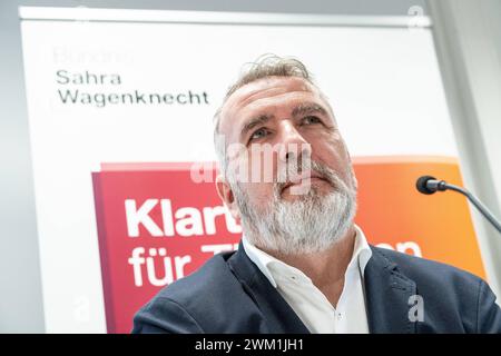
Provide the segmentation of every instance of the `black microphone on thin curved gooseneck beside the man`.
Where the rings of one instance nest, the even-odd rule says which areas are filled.
[[[489,211],[489,209],[466,189],[454,185],[450,185],[445,180],[439,180],[432,176],[422,176],[418,178],[415,187],[418,188],[419,192],[425,195],[444,190],[454,190],[462,194],[475,206],[477,209],[479,209],[479,211],[485,217],[485,219],[488,219],[489,222],[491,222],[492,226],[501,234],[501,224],[499,222],[499,220],[497,220],[495,217],[491,214],[491,211]]]

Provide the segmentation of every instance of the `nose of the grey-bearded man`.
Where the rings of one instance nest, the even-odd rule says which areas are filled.
[[[278,157],[282,161],[286,162],[303,155],[311,155],[310,142],[301,135],[293,122],[284,120],[281,131]]]

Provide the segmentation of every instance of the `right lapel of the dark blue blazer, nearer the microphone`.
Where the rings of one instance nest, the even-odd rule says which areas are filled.
[[[380,248],[372,248],[372,257],[364,271],[369,329],[371,333],[416,333],[416,324],[409,313],[410,298],[416,295],[415,283],[400,274],[396,264]]]

